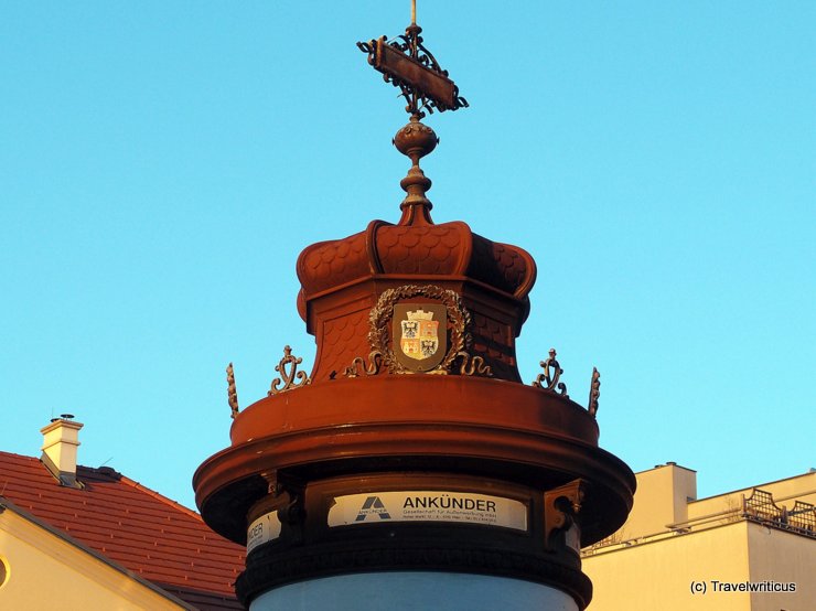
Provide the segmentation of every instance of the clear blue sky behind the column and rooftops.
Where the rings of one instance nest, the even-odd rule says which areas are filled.
[[[410,2],[0,9],[0,449],[72,412],[83,464],[186,505],[290,344],[307,245],[396,222],[407,119],[355,42]],[[432,115],[437,222],[539,266],[526,380],[558,349],[601,443],[700,496],[814,455],[813,2],[430,2],[469,109]],[[511,408],[509,406],[507,407]]]

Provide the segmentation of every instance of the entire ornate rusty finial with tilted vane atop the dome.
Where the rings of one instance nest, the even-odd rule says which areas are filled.
[[[411,116],[410,122],[394,138],[399,152],[411,160],[411,169],[400,185],[407,196],[400,204],[402,218],[400,225],[433,224],[430,217],[432,204],[425,196],[431,181],[419,168],[419,159],[430,153],[439,142],[433,130],[419,122],[425,111],[434,109],[443,112],[468,106],[468,100],[459,95],[459,87],[448,77],[436,57],[422,44],[422,29],[417,25],[417,0],[411,0],[411,24],[405,34],[388,41],[380,36],[368,42],[358,42],[361,51],[368,54],[368,63],[383,73],[386,83],[399,87],[401,96],[408,100],[405,107]]]

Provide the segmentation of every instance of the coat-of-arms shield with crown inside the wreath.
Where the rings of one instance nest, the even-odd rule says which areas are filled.
[[[444,306],[396,303],[393,320],[394,353],[405,367],[427,372],[442,362],[448,350]]]

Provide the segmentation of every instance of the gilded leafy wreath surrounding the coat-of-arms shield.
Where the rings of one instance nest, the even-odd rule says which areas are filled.
[[[468,328],[471,325],[471,315],[462,306],[462,301],[455,292],[437,287],[434,285],[405,285],[396,289],[383,291],[377,304],[372,308],[369,314],[371,328],[368,331],[368,343],[374,352],[383,357],[383,365],[391,374],[415,373],[404,366],[394,354],[391,343],[391,318],[394,306],[398,301],[425,297],[444,304],[448,313],[448,331],[450,331],[450,346],[442,361],[434,368],[427,371],[428,374],[447,375],[448,369],[460,352],[470,347],[471,335]]]

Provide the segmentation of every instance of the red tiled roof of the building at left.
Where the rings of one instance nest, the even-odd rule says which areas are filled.
[[[18,507],[202,611],[243,609],[233,583],[244,547],[110,468],[76,474],[82,490],[60,485],[39,459],[0,452],[0,494]]]

